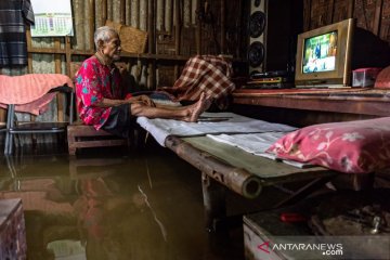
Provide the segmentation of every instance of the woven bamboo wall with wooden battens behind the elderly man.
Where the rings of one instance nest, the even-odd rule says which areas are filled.
[[[123,53],[122,61],[141,89],[172,86],[186,60],[194,54],[227,53],[245,58],[239,47],[239,28],[245,11],[242,3],[225,0],[70,0],[74,15],[74,37],[31,38],[27,32],[28,66],[23,69],[0,69],[4,75],[69,74],[70,62],[81,62],[94,53],[93,31],[106,20],[122,23],[148,32],[144,54]],[[240,1],[239,1],[240,2]],[[213,20],[199,20],[205,12]],[[226,9],[226,5],[231,5]],[[238,12],[237,12],[238,11]],[[229,17],[229,18],[227,18]],[[223,25],[221,23],[224,23]],[[222,30],[229,28],[229,39]],[[210,43],[209,39],[216,39]],[[217,42],[217,43],[216,43]],[[216,48],[219,46],[219,48]],[[60,104],[60,102],[58,102]],[[30,118],[18,115],[20,120],[62,119],[63,107],[52,105],[44,116]],[[0,121],[4,121],[0,110]]]

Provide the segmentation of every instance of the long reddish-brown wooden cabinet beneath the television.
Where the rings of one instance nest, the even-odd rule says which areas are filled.
[[[302,127],[390,116],[390,89],[238,89],[233,104],[238,114]]]

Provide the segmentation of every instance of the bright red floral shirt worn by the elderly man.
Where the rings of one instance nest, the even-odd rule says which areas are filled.
[[[76,75],[76,96],[80,119],[86,125],[93,125],[96,130],[102,128],[112,108],[99,107],[95,104],[103,98],[122,99],[119,81],[118,69],[102,65],[95,56],[82,63]]]

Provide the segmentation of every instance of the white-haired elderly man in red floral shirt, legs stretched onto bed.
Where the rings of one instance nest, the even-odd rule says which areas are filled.
[[[76,74],[76,95],[79,116],[86,125],[128,136],[134,117],[177,119],[196,122],[210,102],[205,93],[182,107],[158,107],[146,95],[125,99],[120,74],[113,62],[119,60],[120,39],[116,30],[103,26],[94,32],[96,53],[87,58]]]

